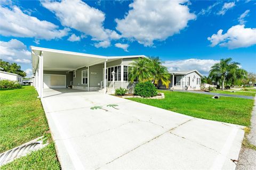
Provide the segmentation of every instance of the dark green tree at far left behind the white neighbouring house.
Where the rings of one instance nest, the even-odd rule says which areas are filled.
[[[25,71],[21,70],[20,65],[17,63],[9,63],[0,59],[0,67],[2,67],[4,69],[3,71],[5,72],[18,74],[21,77],[25,77],[27,75]]]

